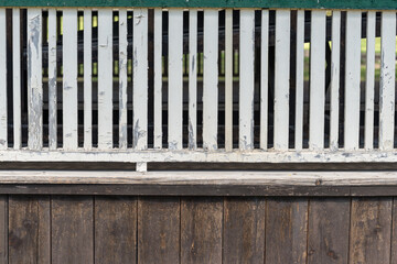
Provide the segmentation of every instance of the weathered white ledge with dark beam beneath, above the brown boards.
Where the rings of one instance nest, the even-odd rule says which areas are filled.
[[[0,194],[396,196],[397,172],[2,170]]]

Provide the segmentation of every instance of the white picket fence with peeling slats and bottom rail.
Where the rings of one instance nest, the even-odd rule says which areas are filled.
[[[60,12],[63,18],[62,24],[57,19]],[[78,13],[82,12],[84,76],[79,79]],[[98,26],[98,67],[95,89],[93,88],[94,12],[97,12]],[[29,8],[24,36],[20,23],[21,21],[23,23],[20,19],[22,11],[12,9],[12,34],[8,34],[7,26],[10,20],[6,9],[0,9],[0,161],[130,162],[142,163],[143,169],[144,163],[150,162],[397,162],[395,11],[378,12],[380,21],[377,21],[378,15],[375,11],[346,11],[346,36],[342,45],[345,48],[345,56],[341,56],[343,28],[341,21],[344,12],[340,10],[311,10],[308,28],[304,10],[242,9],[238,12],[239,25],[236,29],[233,10],[229,9],[225,10],[224,28],[218,25],[222,10],[154,9],[152,36],[148,34],[149,12],[149,9]],[[167,24],[164,12],[168,13]],[[47,18],[45,23],[44,13],[45,19]],[[118,16],[118,38],[114,37],[115,13]],[[189,32],[184,31],[186,13]],[[203,19],[197,15],[200,13],[203,13]],[[271,13],[275,13],[275,19],[271,19]],[[293,26],[291,26],[292,13],[296,15]],[[132,29],[129,29],[129,14],[132,14]],[[259,23],[256,15],[260,15]],[[366,29],[362,29],[363,15]],[[332,29],[331,40],[326,38],[329,20]],[[201,22],[203,29],[198,26]],[[43,23],[46,26],[43,26]],[[168,25],[167,31],[163,25]],[[375,56],[377,25],[382,28],[380,62],[377,62]],[[63,35],[62,44],[57,40],[60,28]],[[305,32],[308,29],[310,32]],[[271,30],[275,32],[273,36]],[[132,31],[131,43],[128,38],[130,31]],[[236,31],[238,38],[234,37]],[[366,33],[364,53],[362,31]],[[256,32],[259,38],[256,37]],[[305,34],[310,37],[308,81],[304,77]],[[168,61],[164,63],[162,50],[165,36]],[[12,52],[12,89],[8,89],[10,56],[7,55],[7,46],[10,37],[12,37],[12,51],[15,51]],[[25,37],[25,48],[21,44],[21,37]],[[202,80],[197,77],[201,67],[197,63],[200,37],[203,38],[204,58]],[[269,44],[272,37],[275,50]],[[291,47],[291,38],[296,43],[294,51]],[[256,48],[258,40],[259,50]],[[116,96],[114,92],[115,41],[118,44],[119,68]],[[332,42],[329,89],[325,81],[328,41]],[[47,42],[47,76],[43,74],[43,42]],[[149,42],[152,42],[152,65],[149,65]],[[223,42],[224,51],[219,50],[219,42]],[[189,76],[184,77],[186,45]],[[233,75],[236,50],[239,56],[237,77]],[[60,51],[62,62],[60,62]],[[273,64],[270,63],[271,52],[275,56]],[[132,57],[131,79],[128,75],[128,54]],[[219,54],[224,55],[219,56]],[[294,54],[292,67],[291,54]],[[26,61],[22,59],[23,56],[26,56]],[[364,81],[361,76],[363,58],[366,62]],[[21,110],[23,65],[21,64],[24,62],[28,87],[25,140],[23,118],[21,118],[23,117]],[[256,66],[256,62],[259,67]],[[218,74],[221,63],[225,67],[222,79]],[[343,81],[341,81],[342,65]],[[380,65],[378,89],[376,89],[375,75],[377,65]],[[149,67],[152,67],[153,75],[149,75]],[[165,67],[168,67],[168,76],[163,75]],[[290,69],[294,70],[296,76],[292,85],[293,100],[290,98],[292,75]],[[63,73],[62,78],[60,70]],[[256,75],[258,72],[259,74]],[[273,79],[273,92],[270,92],[270,78]],[[151,92],[149,92],[150,81]],[[342,82],[345,88],[341,99]],[[45,86],[47,88],[44,89]],[[57,87],[61,86],[60,103],[61,95]],[[309,88],[305,88],[307,86]],[[197,92],[200,89],[202,92]],[[78,99],[79,90],[83,90],[82,107]],[[94,91],[96,94],[93,96]],[[308,102],[304,99],[305,92],[309,92]],[[131,100],[128,96],[130,94]],[[187,98],[187,101],[184,98]],[[151,110],[148,110],[149,100],[153,101]],[[97,109],[97,123],[93,120],[94,106]],[[79,110],[84,120],[81,124]],[[259,118],[255,112],[259,113]],[[46,118],[44,113],[47,113]],[[234,121],[234,113],[238,114],[237,123]],[[130,114],[132,114],[131,122],[128,119]],[[150,114],[152,114],[152,127],[149,124]],[[164,118],[168,120],[163,120]],[[44,119],[47,119],[45,130]],[[202,122],[198,123],[198,120]],[[223,120],[222,123],[219,120]],[[79,131],[79,128],[83,129]],[[62,131],[62,139],[58,139],[58,130]],[[258,130],[258,136],[255,130]],[[222,144],[219,144],[221,132]],[[114,140],[115,133],[118,133],[117,142]],[[97,138],[97,143],[94,143],[93,134]],[[164,134],[167,134],[165,142]],[[79,139],[82,139],[81,143]],[[131,139],[131,144],[128,139]]]

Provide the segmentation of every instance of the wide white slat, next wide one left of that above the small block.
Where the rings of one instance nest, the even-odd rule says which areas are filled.
[[[98,148],[112,147],[112,10],[98,10]]]

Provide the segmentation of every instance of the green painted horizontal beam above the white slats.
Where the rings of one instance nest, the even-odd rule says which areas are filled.
[[[0,7],[299,8],[397,10],[397,0],[0,0]]]

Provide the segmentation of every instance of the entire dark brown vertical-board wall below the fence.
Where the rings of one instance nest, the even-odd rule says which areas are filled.
[[[0,263],[397,263],[386,198],[0,197]]]

